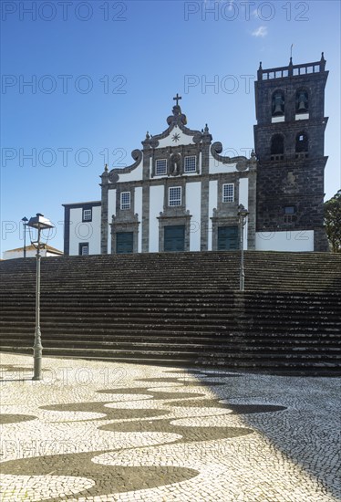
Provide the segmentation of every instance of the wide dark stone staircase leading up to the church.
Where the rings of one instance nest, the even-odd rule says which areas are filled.
[[[42,258],[44,355],[341,374],[341,255]],[[36,260],[0,262],[1,350],[32,354]]]

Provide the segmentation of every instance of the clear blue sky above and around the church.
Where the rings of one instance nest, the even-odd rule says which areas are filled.
[[[1,250],[40,212],[63,249],[64,203],[100,199],[99,175],[132,163],[181,95],[225,154],[253,148],[263,68],[325,52],[325,199],[340,188],[340,2],[3,1]],[[210,85],[211,84],[211,85]]]

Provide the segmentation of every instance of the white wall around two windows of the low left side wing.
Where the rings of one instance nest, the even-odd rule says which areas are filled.
[[[82,222],[82,208],[70,210],[70,255],[79,254],[79,244],[88,243],[89,255],[100,255],[100,206],[92,208],[92,221]]]

